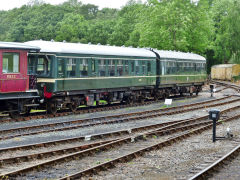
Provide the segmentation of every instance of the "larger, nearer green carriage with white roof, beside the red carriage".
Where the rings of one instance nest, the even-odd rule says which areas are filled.
[[[26,44],[41,48],[29,59],[37,67],[38,89],[50,113],[60,107],[74,111],[101,99],[132,102],[155,87],[156,57],[146,49],[47,41]]]

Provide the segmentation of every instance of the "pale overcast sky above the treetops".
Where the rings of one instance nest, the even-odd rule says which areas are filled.
[[[60,4],[67,0],[43,0],[50,4]],[[102,9],[104,7],[109,8],[121,8],[124,6],[128,0],[80,0],[84,4],[95,4]],[[145,0],[142,0],[142,2]],[[15,7],[19,8],[24,4],[27,4],[29,0],[0,0],[0,10],[9,10]]]

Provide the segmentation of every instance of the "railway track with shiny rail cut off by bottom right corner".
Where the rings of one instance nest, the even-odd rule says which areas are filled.
[[[239,179],[239,162],[240,142],[237,143],[237,146],[231,152],[227,153],[210,166],[191,177],[189,180],[209,179],[211,177],[216,179]]]

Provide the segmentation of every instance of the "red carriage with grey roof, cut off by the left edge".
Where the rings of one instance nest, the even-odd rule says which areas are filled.
[[[37,89],[31,86],[27,68],[28,52],[38,47],[24,43],[0,42],[0,111],[15,116],[31,109],[38,98]]]

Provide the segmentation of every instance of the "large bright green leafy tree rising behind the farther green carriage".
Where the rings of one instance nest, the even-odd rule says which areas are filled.
[[[211,34],[206,5],[190,0],[150,0],[135,34],[141,46],[203,53]]]

